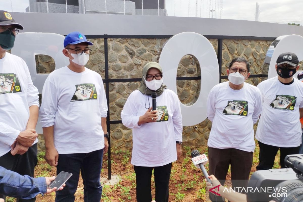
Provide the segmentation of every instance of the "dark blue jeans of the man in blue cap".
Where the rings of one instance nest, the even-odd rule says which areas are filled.
[[[57,175],[61,171],[72,173],[72,177],[65,183],[63,190],[56,192],[56,202],[75,201],[75,192],[78,187],[79,174],[84,184],[84,201],[100,202],[102,186],[100,173],[102,168],[103,149],[83,154],[59,154]]]

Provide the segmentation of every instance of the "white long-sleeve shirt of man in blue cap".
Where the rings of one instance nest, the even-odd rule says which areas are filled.
[[[42,91],[42,127],[54,125],[59,154],[88,153],[104,147],[101,117],[107,116],[101,76],[88,68],[77,73],[67,66],[53,71]]]

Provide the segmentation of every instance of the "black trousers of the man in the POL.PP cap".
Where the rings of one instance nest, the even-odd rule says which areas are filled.
[[[257,166],[257,171],[259,170],[268,170],[274,166],[275,157],[278,150],[280,149],[280,165],[281,168],[285,168],[284,158],[288,154],[299,154],[298,147],[276,147],[268,144],[259,142],[259,165]]]

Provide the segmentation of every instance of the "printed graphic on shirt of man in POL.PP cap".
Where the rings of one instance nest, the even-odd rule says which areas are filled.
[[[292,95],[276,95],[270,106],[275,109],[294,110],[297,97]]]

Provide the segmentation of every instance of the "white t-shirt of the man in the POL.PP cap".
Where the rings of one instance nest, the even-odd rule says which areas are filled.
[[[303,108],[303,83],[298,79],[282,84],[278,76],[257,86],[263,98],[263,111],[256,139],[276,147],[298,147],[301,144],[299,108]]]

